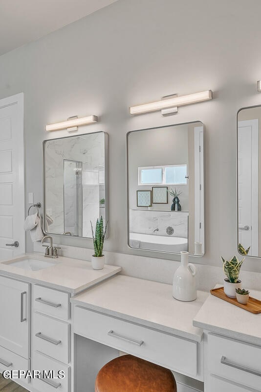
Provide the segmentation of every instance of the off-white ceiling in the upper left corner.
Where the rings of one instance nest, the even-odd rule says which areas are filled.
[[[0,0],[0,56],[116,0]]]

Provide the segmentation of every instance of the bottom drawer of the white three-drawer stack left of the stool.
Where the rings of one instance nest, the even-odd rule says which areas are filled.
[[[61,362],[55,361],[54,359],[47,357],[44,354],[35,351],[33,353],[32,370],[41,371],[41,376],[43,376],[43,370],[46,373],[49,371],[53,371],[50,373],[50,378],[45,378],[45,381],[40,380],[38,378],[34,378],[31,381],[32,386],[40,392],[54,392],[55,390],[59,392],[69,392],[70,390],[70,367]],[[64,378],[58,377],[58,371],[64,371]]]

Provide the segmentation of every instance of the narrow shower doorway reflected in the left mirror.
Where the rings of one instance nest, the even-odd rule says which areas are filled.
[[[82,162],[64,159],[64,233],[83,235]]]

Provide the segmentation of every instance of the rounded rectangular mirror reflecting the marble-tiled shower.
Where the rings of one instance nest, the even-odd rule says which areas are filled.
[[[108,220],[107,148],[105,132],[43,142],[45,233],[91,238]]]

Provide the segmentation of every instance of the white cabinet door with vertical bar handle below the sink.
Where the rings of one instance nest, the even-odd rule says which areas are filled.
[[[0,276],[0,346],[28,358],[29,284]]]

